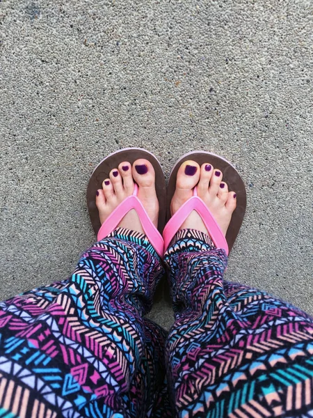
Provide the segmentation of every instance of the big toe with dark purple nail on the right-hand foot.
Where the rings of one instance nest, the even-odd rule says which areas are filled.
[[[193,195],[193,188],[200,178],[200,166],[197,162],[188,160],[182,163],[177,172],[176,189],[172,198],[172,214]]]

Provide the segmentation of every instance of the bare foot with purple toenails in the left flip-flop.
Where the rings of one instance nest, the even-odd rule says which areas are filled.
[[[155,173],[152,164],[144,159],[136,160],[132,166],[129,162],[121,162],[117,169],[111,170],[109,177],[103,181],[102,189],[97,190],[96,205],[101,224],[124,199],[133,194],[134,184],[137,183],[138,199],[143,203],[147,215],[157,228],[159,201],[155,191]],[[129,210],[118,226],[144,233],[134,209]]]

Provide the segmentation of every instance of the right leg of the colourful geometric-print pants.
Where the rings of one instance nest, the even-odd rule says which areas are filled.
[[[207,235],[177,233],[170,268],[175,326],[166,343],[175,416],[313,417],[313,318],[223,281]]]

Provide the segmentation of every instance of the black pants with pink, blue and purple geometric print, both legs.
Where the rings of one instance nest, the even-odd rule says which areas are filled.
[[[175,324],[145,318],[164,265],[116,229],[69,279],[0,304],[0,417],[313,417],[313,318],[223,281],[227,256],[179,231]]]

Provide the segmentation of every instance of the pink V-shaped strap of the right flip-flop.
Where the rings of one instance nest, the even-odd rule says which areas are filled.
[[[196,188],[193,191],[193,197],[188,199],[188,201],[186,201],[186,203],[184,203],[184,205],[177,210],[175,215],[173,215],[166,224],[163,230],[164,248],[168,248],[175,233],[177,233],[180,226],[182,226],[193,210],[198,212],[200,215],[216,248],[225,249],[226,254],[228,255],[229,251],[225,236],[207,206],[200,199],[200,197],[198,197]]]

